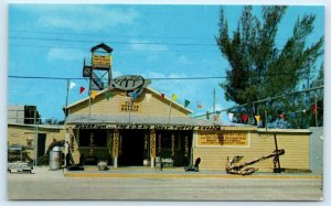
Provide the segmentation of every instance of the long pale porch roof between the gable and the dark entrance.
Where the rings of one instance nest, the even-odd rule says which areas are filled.
[[[88,116],[88,115],[70,115],[66,123],[114,123],[114,124],[171,124],[171,126],[221,126],[221,122],[193,119],[190,117],[166,117],[166,116]]]

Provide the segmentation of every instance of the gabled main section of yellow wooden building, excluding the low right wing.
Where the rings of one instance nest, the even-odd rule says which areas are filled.
[[[117,167],[147,161],[154,166],[160,156],[183,166],[193,154],[194,130],[221,128],[190,118],[190,109],[149,87],[135,101],[118,89],[107,100],[106,91],[67,107],[66,141],[75,162],[84,154],[87,164],[107,160]]]

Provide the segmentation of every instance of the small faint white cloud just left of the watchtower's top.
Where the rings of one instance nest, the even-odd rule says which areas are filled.
[[[51,48],[47,61],[83,61],[84,52],[78,48]]]

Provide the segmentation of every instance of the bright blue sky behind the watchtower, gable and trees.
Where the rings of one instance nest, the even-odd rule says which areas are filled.
[[[237,26],[242,7],[226,6],[229,29]],[[254,7],[259,13],[260,7]],[[317,14],[316,29],[308,42],[324,33],[322,7],[289,7],[279,26],[277,45],[292,32],[297,18]],[[135,4],[10,4],[8,75],[82,77],[84,57],[92,46],[105,42],[114,48],[113,75],[140,74],[145,78],[225,76],[228,63],[215,44],[220,6]],[[194,115],[234,104],[224,99],[218,86],[224,79],[153,80],[152,88],[178,101],[191,101]],[[84,79],[74,79],[88,87]],[[9,105],[36,105],[42,118],[63,119],[66,80],[8,79]],[[70,102],[87,96],[78,86],[70,90]],[[203,109],[196,108],[196,102]],[[226,113],[223,116],[226,121]]]

